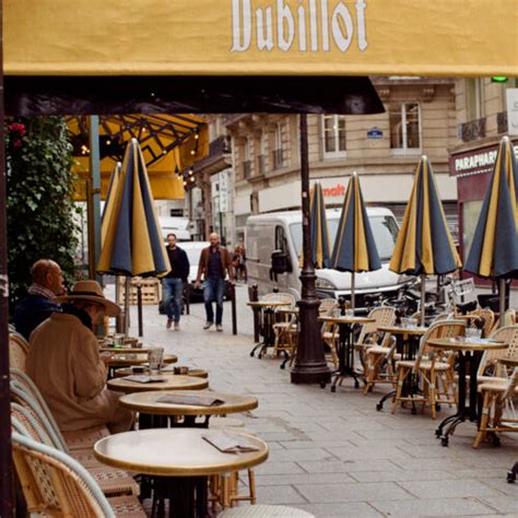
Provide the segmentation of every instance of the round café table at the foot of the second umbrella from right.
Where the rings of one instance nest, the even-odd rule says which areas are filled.
[[[396,337],[396,351],[401,354],[401,360],[414,360],[415,353],[419,349],[419,342],[421,337],[426,332],[426,328],[417,327],[401,327],[401,326],[379,326],[378,331],[389,333]],[[413,374],[407,376],[403,382],[402,395],[405,397],[419,391],[419,379]],[[386,393],[377,403],[376,410],[379,412],[382,410],[384,404],[389,399],[393,399],[396,390],[391,390]],[[415,403],[412,402],[412,414],[416,414]]]

